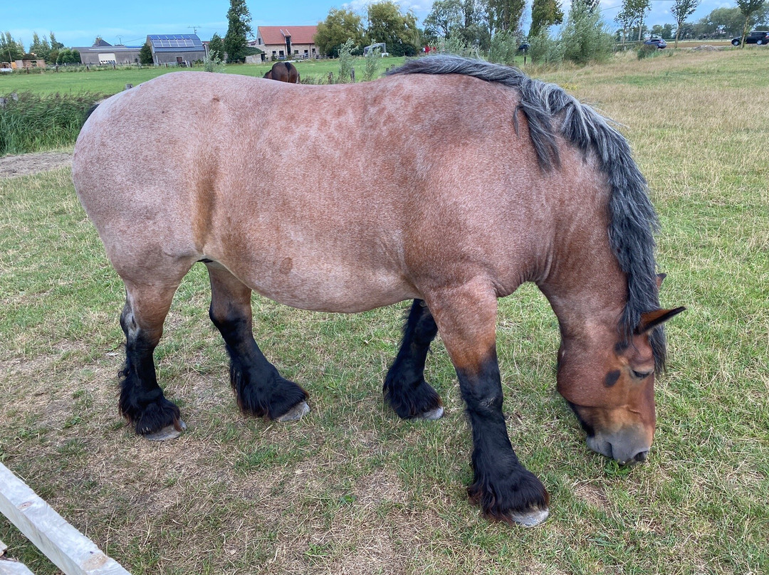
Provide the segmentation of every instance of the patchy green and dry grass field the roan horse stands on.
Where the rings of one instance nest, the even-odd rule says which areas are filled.
[[[769,573],[767,67],[769,51],[727,50],[538,74],[621,124],[661,217],[661,301],[688,307],[667,325],[650,458],[628,470],[588,450],[554,391],[544,297],[501,301],[508,430],[552,497],[541,527],[469,504],[440,342],[428,377],[444,418],[384,406],[406,303],[345,317],[255,297],[256,341],[311,394],[302,420],[269,423],[238,412],[195,266],[156,354],[189,429],[135,437],[116,410],[123,287],[68,168],[0,179],[0,460],[135,575]],[[0,539],[55,573],[2,519]]]

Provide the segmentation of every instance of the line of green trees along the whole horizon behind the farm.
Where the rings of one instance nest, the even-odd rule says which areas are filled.
[[[362,53],[365,45],[384,42],[395,56],[413,56],[427,46],[441,45],[447,52],[484,55],[491,60],[510,63],[521,44],[528,46],[534,60],[557,62],[568,59],[578,63],[600,61],[613,50],[615,40],[641,40],[645,35],[666,40],[679,38],[737,37],[760,25],[769,27],[769,2],[735,0],[735,8],[716,8],[697,22],[688,22],[701,0],[674,0],[671,15],[675,24],[648,28],[646,16],[651,0],[622,0],[611,28],[601,18],[599,0],[574,0],[564,14],[561,0],[531,0],[531,24],[522,28],[528,0],[434,0],[418,28],[414,12],[403,12],[393,0],[369,4],[363,14],[346,8],[331,8],[318,23],[315,45],[318,52],[336,58],[341,46],[352,42],[352,53]],[[225,38],[213,35],[209,44],[211,58],[243,61],[249,54],[261,51],[248,46],[253,36],[251,14],[245,0],[230,0]],[[561,25],[558,35],[551,28]],[[96,38],[98,42],[100,38]],[[744,45],[744,43],[743,43]],[[140,52],[142,64],[151,64],[149,45]],[[0,60],[14,61],[38,58],[48,64],[76,63],[80,55],[65,48],[54,32],[48,36],[32,35],[29,50],[10,32],[0,34]]]

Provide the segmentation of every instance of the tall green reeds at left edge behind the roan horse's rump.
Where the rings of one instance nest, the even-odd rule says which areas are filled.
[[[0,107],[0,155],[73,145],[85,112],[101,95],[21,92]]]

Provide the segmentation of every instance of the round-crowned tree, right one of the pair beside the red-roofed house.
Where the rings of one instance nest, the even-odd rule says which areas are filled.
[[[384,42],[394,56],[414,56],[420,43],[417,17],[414,12],[401,13],[392,0],[368,5],[368,40]]]

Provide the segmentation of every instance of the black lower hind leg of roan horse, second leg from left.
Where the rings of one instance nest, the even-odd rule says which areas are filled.
[[[230,383],[241,410],[257,417],[277,419],[307,400],[307,392],[281,377],[261,353],[251,334],[248,317],[238,314],[234,308],[225,317],[217,317],[213,304],[209,315],[225,340],[231,362]]]

